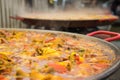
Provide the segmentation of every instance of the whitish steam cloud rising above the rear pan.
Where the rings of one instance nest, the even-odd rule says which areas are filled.
[[[18,2],[19,1],[19,2]],[[103,8],[99,0],[53,0],[48,4],[48,0],[14,0],[14,14],[19,16],[41,15],[41,16],[73,16],[78,15],[102,15],[109,13],[108,8]],[[63,2],[60,2],[63,1]],[[64,2],[66,1],[66,2]]]

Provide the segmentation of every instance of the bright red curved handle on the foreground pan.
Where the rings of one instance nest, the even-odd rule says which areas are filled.
[[[120,40],[120,33],[116,33],[116,32],[110,32],[110,31],[95,31],[92,33],[87,34],[88,36],[94,36],[97,34],[105,34],[105,35],[112,35],[113,37],[109,37],[109,38],[105,38],[104,40],[110,42],[110,41],[115,41],[115,40]]]

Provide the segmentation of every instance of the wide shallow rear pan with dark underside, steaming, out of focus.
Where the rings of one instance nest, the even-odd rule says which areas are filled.
[[[63,14],[64,15],[64,14]],[[46,16],[46,15],[44,15]],[[57,15],[59,16],[59,15]],[[118,17],[114,16],[112,14],[106,14],[106,15],[96,15],[96,16],[79,16],[79,15],[74,15],[77,17],[73,16],[68,16],[63,18],[62,16],[60,17],[54,17],[51,18],[48,17],[42,17],[38,18],[34,14],[33,16],[11,16],[10,18],[20,20],[23,23],[27,24],[28,27],[35,25],[35,26],[45,26],[45,27],[96,27],[96,26],[105,26],[112,24],[115,22]],[[98,18],[97,18],[98,17]]]

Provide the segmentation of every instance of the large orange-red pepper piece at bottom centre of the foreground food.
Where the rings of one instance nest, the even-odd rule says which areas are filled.
[[[58,73],[65,73],[68,71],[65,66],[60,65],[60,64],[49,63],[48,66],[52,67]]]

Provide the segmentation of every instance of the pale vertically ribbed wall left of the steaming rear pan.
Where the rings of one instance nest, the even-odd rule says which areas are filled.
[[[12,20],[20,7],[21,0],[0,0],[0,28],[22,28],[25,26],[21,21]],[[17,6],[16,6],[17,5]]]

